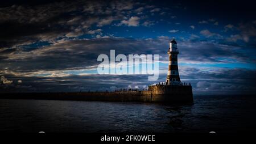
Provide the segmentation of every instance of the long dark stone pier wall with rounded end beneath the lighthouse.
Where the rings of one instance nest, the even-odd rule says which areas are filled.
[[[46,92],[2,94],[0,99],[46,99],[86,101],[142,101],[176,103],[193,101],[191,86],[150,86],[147,91]]]

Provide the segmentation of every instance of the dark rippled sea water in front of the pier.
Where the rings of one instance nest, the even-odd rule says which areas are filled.
[[[0,132],[256,132],[255,96],[191,105],[0,99]]]

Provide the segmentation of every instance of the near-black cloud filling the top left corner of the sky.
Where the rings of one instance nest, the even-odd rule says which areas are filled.
[[[31,44],[37,40],[52,40],[71,32],[69,27],[62,25],[68,21],[70,16],[60,15],[67,13],[67,11],[73,12],[76,7],[77,5],[73,5],[73,3],[56,2],[35,6],[13,5],[1,8],[0,48]]]

